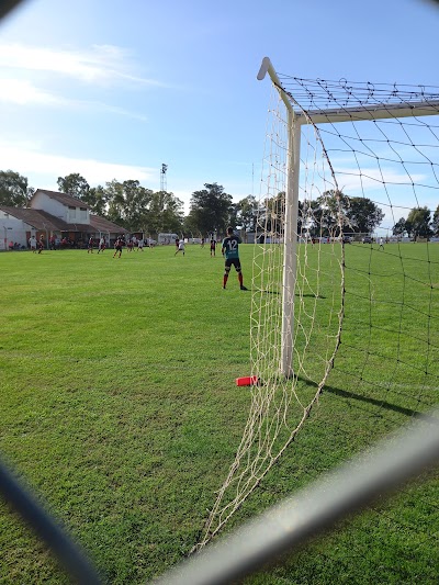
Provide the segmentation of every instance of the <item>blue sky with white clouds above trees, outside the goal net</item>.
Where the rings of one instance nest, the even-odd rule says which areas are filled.
[[[0,23],[0,169],[158,190],[165,162],[187,211],[204,183],[258,195],[266,55],[295,77],[439,86],[438,30],[421,0],[29,0]]]

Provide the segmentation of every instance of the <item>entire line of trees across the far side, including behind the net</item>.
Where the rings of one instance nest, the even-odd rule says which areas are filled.
[[[257,202],[248,195],[237,203],[221,184],[205,183],[190,199],[184,215],[183,202],[169,191],[153,191],[137,180],[106,182],[90,187],[79,173],[58,177],[59,191],[83,201],[95,215],[105,217],[130,232],[158,234],[169,232],[192,236],[224,234],[228,225],[245,233],[267,230],[273,234],[283,224],[285,193]],[[0,204],[25,207],[35,192],[26,177],[0,171]],[[371,234],[383,221],[382,210],[368,198],[348,196],[341,191],[326,191],[311,202],[299,202],[297,233],[311,237],[339,235],[341,230]],[[439,205],[413,209],[407,218],[394,226],[395,236],[430,237],[439,235]]]

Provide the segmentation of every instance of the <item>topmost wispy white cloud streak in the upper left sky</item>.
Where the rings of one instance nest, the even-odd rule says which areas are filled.
[[[87,83],[162,86],[137,75],[128,50],[114,45],[93,45],[89,50],[0,44],[0,67],[13,70],[48,71]]]

